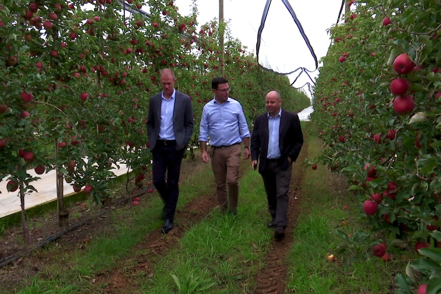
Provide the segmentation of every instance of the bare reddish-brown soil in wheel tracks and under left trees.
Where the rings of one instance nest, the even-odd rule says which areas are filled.
[[[285,260],[291,243],[294,241],[293,231],[296,227],[297,210],[300,202],[303,200],[301,195],[303,167],[301,163],[305,160],[306,153],[307,144],[305,143],[299,158],[293,165],[293,176],[289,192],[289,224],[285,230],[285,238],[272,242],[272,248],[266,258],[266,267],[262,268],[256,276],[256,288],[253,293],[283,293],[285,290],[285,281],[288,273]],[[242,161],[242,163],[241,174],[246,170],[246,165],[249,164],[249,161]],[[201,164],[201,161],[197,158],[194,161],[184,161],[181,170],[181,180],[189,176]],[[26,282],[23,277],[35,276],[40,268],[59,262],[59,258],[65,253],[72,252],[76,248],[82,248],[94,236],[101,235],[109,228],[112,229],[113,226],[111,224],[117,221],[112,212],[129,209],[131,199],[137,195],[143,195],[143,197],[157,196],[156,193],[147,193],[149,188],[151,187],[133,188],[130,192],[125,191],[125,193],[119,192],[113,197],[109,207],[99,209],[96,207],[92,209],[82,207],[81,203],[74,204],[69,210],[71,215],[72,212],[77,212],[75,215],[78,215],[78,217],[70,217],[70,223],[81,223],[83,225],[43,245],[41,244],[44,243],[43,241],[46,238],[62,231],[58,227],[55,216],[48,217],[43,215],[33,217],[32,221],[41,225],[31,232],[34,238],[32,246],[24,245],[20,227],[8,228],[0,242],[0,264],[11,257],[14,258],[14,261],[0,268],[0,285],[2,285],[3,289],[11,287],[11,290],[23,286]],[[142,202],[148,202],[148,200],[143,200]],[[145,236],[144,242],[140,242],[133,248],[134,252],[144,252],[141,256],[136,256],[136,261],[131,259],[120,260],[115,263],[118,267],[109,270],[105,275],[95,277],[96,284],[106,285],[105,288],[101,289],[101,292],[116,294],[132,293],[139,290],[137,281],[130,277],[137,277],[137,272],[153,275],[152,271],[155,268],[155,263],[178,244],[177,239],[180,239],[194,223],[200,222],[206,217],[215,208],[216,202],[214,193],[197,197],[183,209],[177,211],[176,217],[180,221],[175,224],[173,230],[166,236],[163,236],[159,230],[150,231]],[[112,217],[107,217],[108,214],[112,214]],[[125,214],[120,213],[117,215],[124,217]],[[36,243],[39,243],[39,245],[35,245]],[[43,246],[52,246],[52,250],[35,250],[35,248]],[[134,266],[134,264],[136,265]],[[130,268],[130,275],[127,275],[127,268]]]

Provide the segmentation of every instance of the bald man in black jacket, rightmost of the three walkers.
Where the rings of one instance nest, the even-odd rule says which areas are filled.
[[[269,228],[275,228],[274,236],[282,239],[288,225],[288,190],[292,164],[297,160],[303,145],[303,134],[297,114],[282,110],[280,94],[267,94],[268,112],[258,116],[251,134],[251,164],[259,173],[267,193],[271,214]]]

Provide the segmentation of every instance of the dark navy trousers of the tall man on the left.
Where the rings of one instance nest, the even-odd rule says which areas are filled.
[[[153,185],[164,201],[165,219],[173,220],[179,198],[179,175],[184,149],[176,150],[175,145],[158,144],[152,154]]]

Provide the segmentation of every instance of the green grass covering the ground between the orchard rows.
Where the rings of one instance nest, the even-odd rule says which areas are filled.
[[[310,128],[305,127],[310,134],[307,156],[313,158],[319,152],[320,142]],[[200,191],[215,190],[211,165],[190,170],[180,186],[178,209],[200,195]],[[320,165],[317,170],[304,168],[303,172],[303,200],[286,260],[286,292],[392,293],[392,275],[398,269],[404,270],[407,252],[391,248],[394,261],[384,263],[373,257],[366,246],[362,247],[362,258],[354,258],[348,267],[343,266],[345,256],[335,252],[342,239],[333,232],[341,230],[355,235],[365,226],[365,219],[355,199],[345,191],[344,179],[338,179]],[[136,282],[135,288],[121,289],[121,293],[251,293],[256,275],[264,268],[271,250],[272,231],[266,227],[269,215],[258,172],[247,168],[239,187],[238,217],[213,210],[193,224],[165,256],[151,257],[155,264],[151,272],[135,270],[137,257],[146,252],[136,252],[134,248],[143,242],[146,231],[158,230],[162,224],[158,218],[159,197],[151,197],[142,209],[114,212],[123,214],[124,221],[115,223],[111,235],[94,237],[85,248],[60,255],[59,262],[47,265],[31,278],[29,287],[17,293],[99,293],[104,285],[95,284],[93,277],[106,275],[112,268],[119,268],[120,274],[125,273]],[[349,209],[343,209],[344,206]],[[120,219],[114,215],[113,221]],[[327,254],[335,254],[336,261],[329,262]],[[0,289],[0,293],[4,292]]]

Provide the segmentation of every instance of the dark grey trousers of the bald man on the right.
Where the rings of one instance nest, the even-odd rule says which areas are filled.
[[[277,162],[267,162],[262,173],[263,185],[267,193],[268,209],[275,219],[276,227],[286,228],[288,225],[288,190],[290,189],[293,166],[281,170]]]

